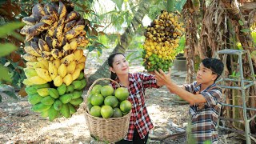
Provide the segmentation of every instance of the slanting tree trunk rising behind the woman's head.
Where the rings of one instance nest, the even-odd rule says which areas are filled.
[[[139,4],[138,10],[134,13],[134,18],[132,19],[131,25],[126,28],[125,32],[121,36],[120,42],[117,46],[115,46],[111,54],[117,52],[126,52],[127,47],[130,45],[130,42],[132,41],[133,36],[136,33],[136,30],[139,26],[143,26],[142,19],[144,18],[145,14],[148,13],[148,5],[148,1],[142,1]],[[92,82],[94,82],[98,78],[110,78],[110,70],[107,60],[94,74],[90,75],[90,77],[88,78],[87,86],[90,86]]]

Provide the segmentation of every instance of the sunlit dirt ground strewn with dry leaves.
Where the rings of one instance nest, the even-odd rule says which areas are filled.
[[[104,60],[100,61],[104,62]],[[90,63],[93,66],[94,61]],[[90,67],[90,71],[93,70],[97,70],[97,67]],[[143,68],[135,64],[130,66],[130,70],[143,70]],[[174,77],[173,80],[178,84],[185,81],[184,78],[178,77]],[[83,93],[83,96],[85,95],[86,90]],[[98,143],[90,137],[82,108],[79,108],[72,118],[58,118],[50,122],[47,118],[42,118],[40,114],[30,110],[31,105],[26,97],[15,101],[3,96],[2,100],[0,143]],[[186,143],[185,134],[170,136],[184,132],[189,118],[189,105],[177,101],[178,99],[174,94],[170,94],[165,86],[158,90],[146,90],[146,106],[154,123],[148,143]],[[238,138],[237,134],[227,134],[224,131],[219,143],[242,143],[236,138]]]

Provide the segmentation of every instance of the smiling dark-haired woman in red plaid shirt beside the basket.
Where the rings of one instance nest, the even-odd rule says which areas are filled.
[[[111,54],[108,64],[111,79],[128,89],[130,93],[128,100],[133,106],[128,133],[122,141],[116,143],[146,143],[149,130],[154,126],[146,110],[145,90],[150,87],[159,88],[162,84],[157,82],[154,75],[151,74],[130,74],[129,62],[126,61],[122,53]],[[115,82],[111,84],[114,88],[118,87]]]

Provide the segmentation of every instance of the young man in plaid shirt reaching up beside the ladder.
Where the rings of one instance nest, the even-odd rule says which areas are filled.
[[[192,136],[197,143],[218,143],[217,121],[221,110],[222,89],[215,81],[222,74],[222,61],[216,58],[202,60],[196,82],[178,86],[170,79],[170,70],[165,74],[162,70],[154,71],[156,79],[163,82],[171,93],[190,102]]]

